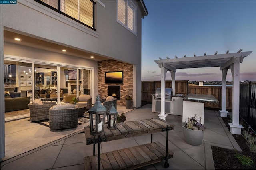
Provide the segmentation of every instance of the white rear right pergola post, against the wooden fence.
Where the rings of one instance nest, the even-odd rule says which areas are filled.
[[[226,78],[228,68],[222,70],[222,83],[221,83],[221,110],[220,117],[227,117],[228,111],[226,111]]]

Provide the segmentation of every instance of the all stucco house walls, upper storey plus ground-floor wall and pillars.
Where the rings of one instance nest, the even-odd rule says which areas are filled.
[[[138,5],[138,1],[134,1],[137,6],[137,32],[132,34],[116,21],[116,1],[96,2],[95,6],[95,26],[96,31],[62,15],[54,10],[35,2],[34,0],[19,0],[15,5],[0,6],[0,69],[4,69],[4,54],[22,56],[22,47],[17,47],[17,51],[8,49],[12,44],[4,47],[3,30],[17,32],[38,38],[46,42],[52,42],[63,46],[80,49],[108,57],[110,59],[129,63],[133,66],[133,99],[134,106],[140,106],[140,80],[141,80],[141,18],[142,12]],[[4,49],[6,48],[6,49]],[[27,49],[26,58],[48,60],[52,62],[68,61],[75,62],[79,65],[88,65],[91,61],[71,56],[54,54],[54,56],[46,55],[47,51],[38,49]],[[19,53],[18,53],[19,52]],[[24,56],[25,57],[25,56]],[[73,59],[72,61],[70,59]],[[94,63],[92,63],[94,65]],[[97,68],[97,65],[95,66]],[[97,69],[95,69],[95,80],[97,79]],[[94,77],[93,77],[94,79]],[[97,81],[94,82],[97,87]],[[1,92],[4,91],[4,76],[1,72],[0,77]],[[95,91],[97,93],[97,91]],[[4,157],[4,100],[1,98],[1,158]]]

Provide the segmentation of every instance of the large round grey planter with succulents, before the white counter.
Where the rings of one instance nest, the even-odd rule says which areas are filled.
[[[195,114],[194,117],[188,118],[188,122],[182,122],[182,127],[185,141],[188,144],[198,146],[202,143],[206,127],[201,123],[201,117],[198,120]]]

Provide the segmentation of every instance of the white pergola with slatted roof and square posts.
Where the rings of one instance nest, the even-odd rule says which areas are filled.
[[[172,89],[173,94],[175,94],[175,72],[177,69],[186,68],[202,68],[202,67],[220,67],[222,71],[222,103],[220,116],[227,117],[228,111],[226,111],[226,77],[228,69],[231,70],[233,77],[233,103],[232,103],[232,123],[230,125],[230,132],[232,134],[241,134],[242,125],[239,124],[239,75],[240,75],[240,63],[243,59],[247,57],[252,51],[241,52],[240,49],[236,53],[217,54],[214,55],[184,57],[178,58],[175,56],[174,59],[159,58],[159,60],[154,60],[161,69],[161,113],[158,115],[161,119],[166,120],[167,115],[165,114],[165,79],[167,71],[171,73],[172,79]]]

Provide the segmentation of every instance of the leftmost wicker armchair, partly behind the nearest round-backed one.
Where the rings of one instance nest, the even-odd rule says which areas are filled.
[[[42,121],[49,119],[49,109],[53,105],[56,105],[55,101],[42,101],[43,105],[38,105],[36,102],[29,103],[29,113],[30,113],[30,121]]]

